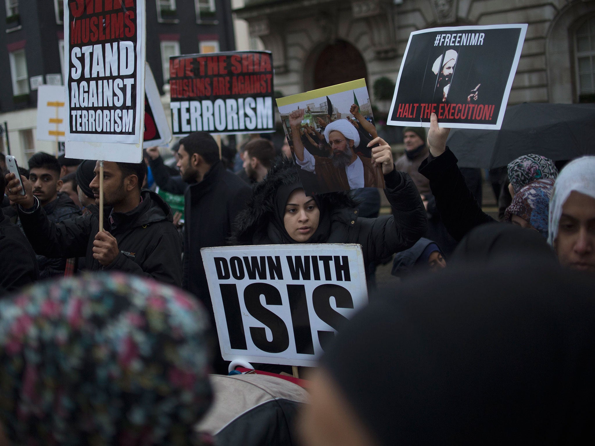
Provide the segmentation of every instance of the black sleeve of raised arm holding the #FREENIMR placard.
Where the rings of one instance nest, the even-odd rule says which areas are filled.
[[[430,180],[444,227],[459,242],[476,226],[495,220],[481,210],[465,184],[457,161],[455,154],[446,147],[446,151],[436,158],[430,153],[419,166],[419,173]]]

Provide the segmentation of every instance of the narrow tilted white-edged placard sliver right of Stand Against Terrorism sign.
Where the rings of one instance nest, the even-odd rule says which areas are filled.
[[[171,141],[171,130],[161,105],[161,96],[149,64],[145,66],[145,134],[143,148],[162,146]]]

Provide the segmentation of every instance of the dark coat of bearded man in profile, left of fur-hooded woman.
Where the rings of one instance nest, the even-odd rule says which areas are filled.
[[[221,161],[215,162],[203,180],[190,185],[184,193],[183,287],[198,296],[208,309],[212,309],[212,303],[201,248],[227,244],[231,225],[251,194],[250,186],[227,171]]]

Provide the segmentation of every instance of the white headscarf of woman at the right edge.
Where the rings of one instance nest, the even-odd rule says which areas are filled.
[[[562,216],[562,206],[570,193],[575,190],[595,198],[595,156],[583,156],[569,162],[556,179],[550,200],[549,237],[547,243],[553,246],[558,237],[558,224]]]

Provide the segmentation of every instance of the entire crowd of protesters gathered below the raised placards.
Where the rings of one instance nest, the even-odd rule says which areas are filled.
[[[297,130],[300,147],[320,137]],[[379,215],[376,189],[307,196],[287,142],[253,138],[234,159],[195,132],[175,166],[157,147],[104,162],[104,231],[99,162],[37,153],[15,178],[2,156],[0,446],[210,444],[196,425],[228,363],[201,248],[295,243],[359,244],[368,283],[391,259],[400,278],[375,284],[309,376],[299,422],[286,414],[302,444],[593,441],[595,156],[511,161],[496,221],[448,135],[432,114],[396,161],[365,140]],[[155,190],[183,196],[183,220]],[[296,444],[241,429],[245,444]]]

